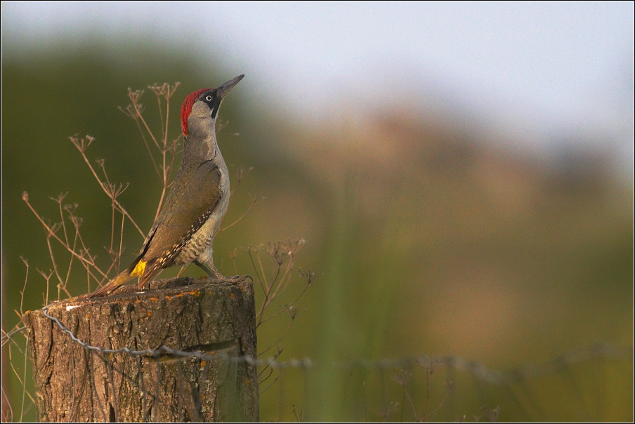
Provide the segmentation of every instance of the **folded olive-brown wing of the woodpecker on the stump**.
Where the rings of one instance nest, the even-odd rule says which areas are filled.
[[[207,221],[220,199],[221,171],[216,164],[207,161],[191,169],[180,168],[138,259],[148,263],[174,257]]]

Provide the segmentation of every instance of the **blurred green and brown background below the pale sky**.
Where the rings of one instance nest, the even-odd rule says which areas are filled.
[[[145,88],[141,102],[156,128],[148,85],[181,81],[171,104],[176,111],[191,91],[237,73],[210,69],[151,41],[4,49],[3,329],[18,321],[13,310],[20,308],[25,281],[20,256],[31,266],[24,310],[42,305],[46,288],[35,268],[52,267],[46,233],[22,201],[23,191],[52,222],[58,211],[49,197],[68,192],[66,202],[79,204],[84,218],[86,244],[107,263],[110,202],[68,136],[96,137],[89,158],[105,159],[111,181],[130,183],[119,200],[147,231],[160,183],[136,125],[117,109],[129,103],[126,89]],[[340,361],[452,355],[504,370],[598,342],[631,349],[633,188],[615,178],[608,159],[574,151],[554,165],[504,150],[455,124],[456,117],[428,116],[408,105],[378,103],[362,115],[309,123],[271,112],[270,101],[239,84],[221,108],[229,124],[218,138],[230,171],[254,167],[227,222],[249,206],[248,194],[266,199],[219,235],[215,262],[233,274],[235,248],[306,239],[296,266],[324,275],[296,305],[299,316],[279,343],[280,359],[308,357],[322,365],[284,371],[261,397],[261,420],[295,420],[294,408],[304,420],[383,420],[382,411],[391,408],[388,420],[414,418],[395,381],[401,369],[333,365]],[[170,119],[176,137],[178,114]],[[143,242],[129,230],[124,262]],[[252,272],[243,251],[236,267]],[[200,270],[190,267],[188,274]],[[295,274],[275,307],[302,284]],[[71,290],[86,292],[85,277],[78,274]],[[259,350],[287,323],[282,314],[263,326]],[[4,358],[3,385],[15,413],[22,390]],[[407,371],[414,373],[407,390],[416,409],[438,407],[430,420],[487,419],[497,406],[499,420],[633,418],[631,357],[563,366],[518,387],[441,369],[430,380],[426,405],[424,368]],[[26,417],[34,419],[34,409]]]

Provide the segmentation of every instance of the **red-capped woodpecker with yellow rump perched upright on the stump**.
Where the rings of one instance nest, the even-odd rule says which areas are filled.
[[[244,281],[240,276],[225,277],[216,269],[211,247],[230,198],[227,165],[216,141],[216,118],[223,98],[243,77],[185,98],[181,106],[183,159],[143,248],[126,270],[87,298],[104,296],[135,277],[141,289],[164,268],[189,263],[216,280]]]

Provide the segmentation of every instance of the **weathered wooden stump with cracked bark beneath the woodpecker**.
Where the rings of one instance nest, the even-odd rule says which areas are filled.
[[[44,312],[25,314],[41,421],[258,420],[251,282],[182,277],[48,306],[86,345],[176,354],[89,350]]]

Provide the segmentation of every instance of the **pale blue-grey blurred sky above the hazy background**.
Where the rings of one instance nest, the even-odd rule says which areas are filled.
[[[631,1],[4,1],[1,8],[4,47],[46,48],[86,34],[150,37],[192,46],[203,63],[209,52],[207,63],[223,60],[228,78],[247,74],[263,105],[275,98],[270,104],[299,117],[405,101],[513,134],[511,144],[612,147],[624,168],[633,166]]]

